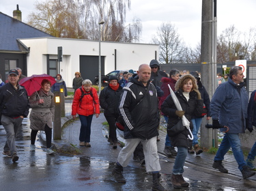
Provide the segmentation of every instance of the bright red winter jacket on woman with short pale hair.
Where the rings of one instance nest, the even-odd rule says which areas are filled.
[[[76,92],[74,93],[74,100],[72,103],[72,115],[76,115],[78,113],[79,115],[94,115],[100,114],[100,104],[99,104],[99,98],[97,94],[97,90],[94,87],[91,87],[90,91],[92,91],[92,95],[94,99],[90,95],[90,91],[85,91],[85,89],[82,86],[82,90],[84,93],[88,93],[87,95],[83,96],[83,99],[81,100],[81,103],[79,102],[81,98],[81,89],[76,89]],[[94,103],[96,102],[96,104]]]

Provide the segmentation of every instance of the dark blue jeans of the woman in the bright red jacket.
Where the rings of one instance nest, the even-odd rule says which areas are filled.
[[[94,115],[79,115],[79,119],[81,121],[81,128],[79,134],[79,141],[89,143],[91,136],[91,121]]]

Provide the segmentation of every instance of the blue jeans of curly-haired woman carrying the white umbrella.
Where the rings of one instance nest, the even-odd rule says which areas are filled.
[[[188,155],[188,148],[177,147],[177,156],[173,166],[173,175],[182,175],[184,172],[183,166]]]

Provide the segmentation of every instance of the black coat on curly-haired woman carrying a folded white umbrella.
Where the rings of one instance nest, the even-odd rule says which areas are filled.
[[[187,101],[184,97],[182,90],[178,90],[175,92],[175,95],[177,96],[177,99],[180,101],[180,104],[182,106],[182,110],[185,111],[185,117],[190,121],[190,130],[192,132],[193,130],[193,123],[191,122],[192,116],[200,117],[203,113],[203,100],[197,100],[197,93],[195,91],[190,91],[189,93],[189,100]],[[168,126],[173,127],[179,120],[177,115],[175,115],[175,111],[177,111],[177,108],[173,102],[173,98],[171,95],[168,95],[166,100],[162,103],[161,111],[165,115],[169,117],[168,119]],[[190,147],[190,141],[188,139],[188,130],[185,128],[185,130],[177,134],[177,136],[170,137],[171,142],[173,144],[173,147]]]

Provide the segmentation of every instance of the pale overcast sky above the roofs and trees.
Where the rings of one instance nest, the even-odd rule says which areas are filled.
[[[0,12],[12,16],[18,4],[23,21],[27,21],[28,14],[33,12],[34,2],[0,0]],[[184,42],[195,47],[201,42],[201,4],[202,0],[131,0],[131,10],[126,13],[126,21],[130,22],[134,16],[141,20],[141,43],[150,43],[160,24],[171,22]],[[242,32],[248,31],[250,27],[256,28],[255,8],[256,0],[218,0],[218,35],[231,25]]]

